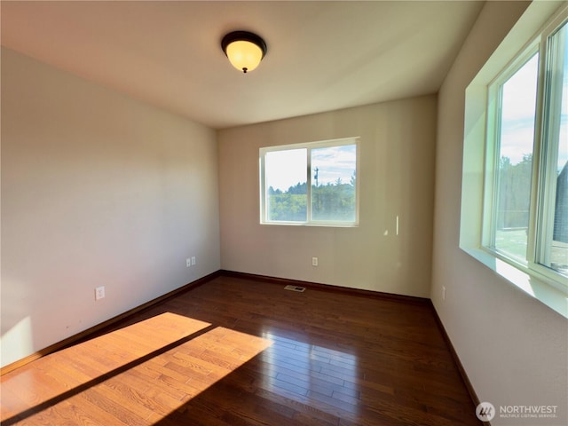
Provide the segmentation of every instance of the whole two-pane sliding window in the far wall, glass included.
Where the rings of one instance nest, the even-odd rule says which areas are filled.
[[[261,223],[355,226],[358,138],[260,149]]]

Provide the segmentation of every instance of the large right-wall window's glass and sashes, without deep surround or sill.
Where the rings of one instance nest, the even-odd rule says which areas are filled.
[[[488,88],[483,224],[485,248],[559,281],[568,278],[567,27],[548,28]]]

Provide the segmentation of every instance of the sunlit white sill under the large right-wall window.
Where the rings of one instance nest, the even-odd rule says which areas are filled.
[[[461,248],[493,272],[568,319],[568,293],[549,284],[538,272],[525,272],[481,248]]]

